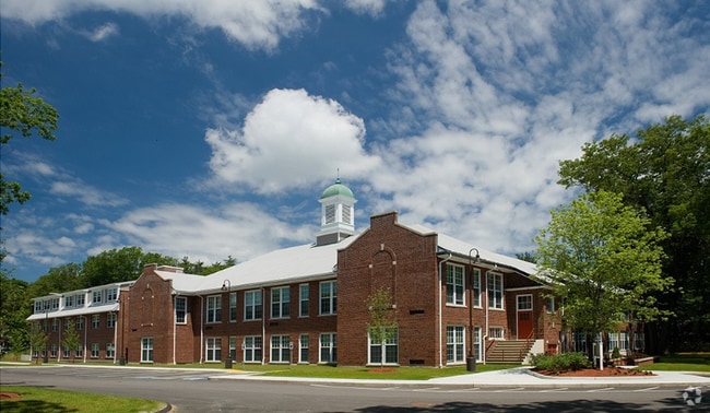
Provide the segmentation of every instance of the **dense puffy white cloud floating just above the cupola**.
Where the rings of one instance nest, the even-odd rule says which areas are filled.
[[[365,177],[379,163],[364,148],[360,118],[304,90],[272,90],[241,129],[210,129],[205,140],[215,184],[244,184],[258,193],[322,182],[339,168]]]

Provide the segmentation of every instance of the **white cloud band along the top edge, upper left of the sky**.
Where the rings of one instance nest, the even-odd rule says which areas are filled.
[[[4,17],[28,24],[42,24],[94,10],[128,12],[144,19],[156,15],[184,17],[198,27],[218,28],[248,49],[265,50],[275,49],[283,36],[306,30],[307,12],[322,11],[316,0],[7,0],[2,3]]]

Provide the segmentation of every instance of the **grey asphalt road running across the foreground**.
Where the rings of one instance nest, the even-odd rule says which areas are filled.
[[[210,379],[189,369],[0,367],[0,384],[162,400],[173,412],[628,412],[710,411],[683,389],[477,389]]]

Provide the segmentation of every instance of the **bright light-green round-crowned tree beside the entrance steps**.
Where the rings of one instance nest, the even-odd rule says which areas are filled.
[[[611,332],[629,314],[643,321],[670,312],[653,293],[673,279],[661,273],[665,233],[624,205],[620,194],[587,192],[552,211],[535,237],[537,276],[564,302],[563,321],[588,335]],[[591,355],[591,346],[589,346]]]

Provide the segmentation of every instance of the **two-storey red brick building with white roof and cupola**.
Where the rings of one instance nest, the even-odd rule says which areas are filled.
[[[133,282],[37,297],[29,320],[47,326],[51,359],[67,358],[51,350],[66,320],[84,320],[81,358],[115,363],[447,366],[557,351],[558,318],[534,264],[400,224],[395,212],[356,234],[356,200],[340,179],[319,202],[312,244],[205,276],[146,266]],[[382,288],[397,328],[380,344],[365,302]]]

